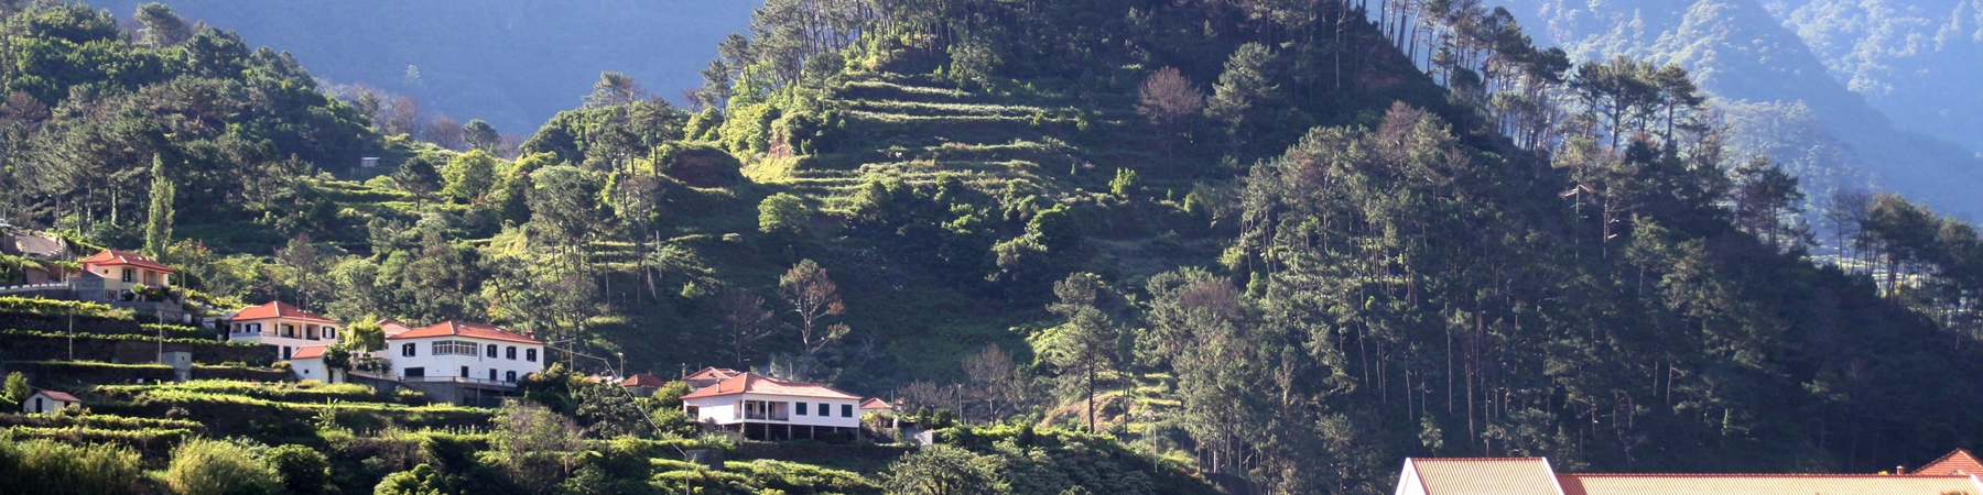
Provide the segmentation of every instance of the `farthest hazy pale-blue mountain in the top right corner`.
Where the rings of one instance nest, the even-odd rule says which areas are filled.
[[[1983,152],[1983,0],[1765,6],[1896,127]]]

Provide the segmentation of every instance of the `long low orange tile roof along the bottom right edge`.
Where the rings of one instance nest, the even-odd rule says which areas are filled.
[[[1557,475],[1563,495],[1977,495],[1967,475]]]

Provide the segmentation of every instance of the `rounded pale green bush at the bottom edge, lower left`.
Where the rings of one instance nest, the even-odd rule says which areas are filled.
[[[165,485],[178,495],[258,495],[282,487],[276,469],[246,447],[204,438],[173,449]]]

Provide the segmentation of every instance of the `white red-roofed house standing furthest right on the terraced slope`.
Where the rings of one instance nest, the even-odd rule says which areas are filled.
[[[704,426],[742,432],[750,440],[861,432],[861,396],[756,372],[742,372],[688,392],[682,396],[682,408]]]

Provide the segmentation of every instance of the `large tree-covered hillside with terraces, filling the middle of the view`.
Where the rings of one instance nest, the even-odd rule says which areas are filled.
[[[0,214],[210,301],[752,366],[1273,493],[1983,440],[1973,226],[1807,192],[1680,65],[1573,63],[1479,2],[771,0],[698,111],[603,73],[514,150],[163,6],[0,12]]]

